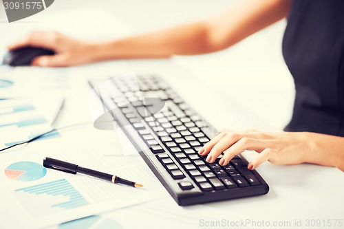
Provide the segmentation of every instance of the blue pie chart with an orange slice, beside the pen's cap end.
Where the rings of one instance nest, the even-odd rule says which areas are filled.
[[[47,174],[47,169],[36,162],[16,162],[5,169],[5,175],[19,182],[32,182]]]

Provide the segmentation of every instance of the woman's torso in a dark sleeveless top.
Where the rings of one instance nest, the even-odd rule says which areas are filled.
[[[344,136],[344,0],[294,0],[283,56],[297,91],[286,131]]]

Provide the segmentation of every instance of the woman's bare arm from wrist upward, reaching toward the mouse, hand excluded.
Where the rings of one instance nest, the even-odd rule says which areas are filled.
[[[96,43],[95,61],[168,58],[223,50],[286,17],[290,0],[248,0],[219,17],[125,39]]]

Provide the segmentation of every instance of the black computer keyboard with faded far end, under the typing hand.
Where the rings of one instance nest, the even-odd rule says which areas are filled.
[[[211,164],[198,155],[218,132],[162,78],[118,76],[110,83],[101,99],[180,206],[268,193],[268,184],[248,170],[242,155],[226,166],[218,164],[222,155]]]

